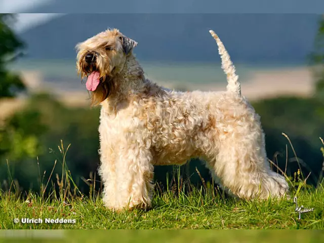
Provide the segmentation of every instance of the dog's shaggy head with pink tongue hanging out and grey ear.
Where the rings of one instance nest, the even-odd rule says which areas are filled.
[[[82,79],[87,77],[93,105],[111,94],[115,88],[113,77],[123,69],[136,45],[117,29],[108,29],[76,45],[76,68]]]

